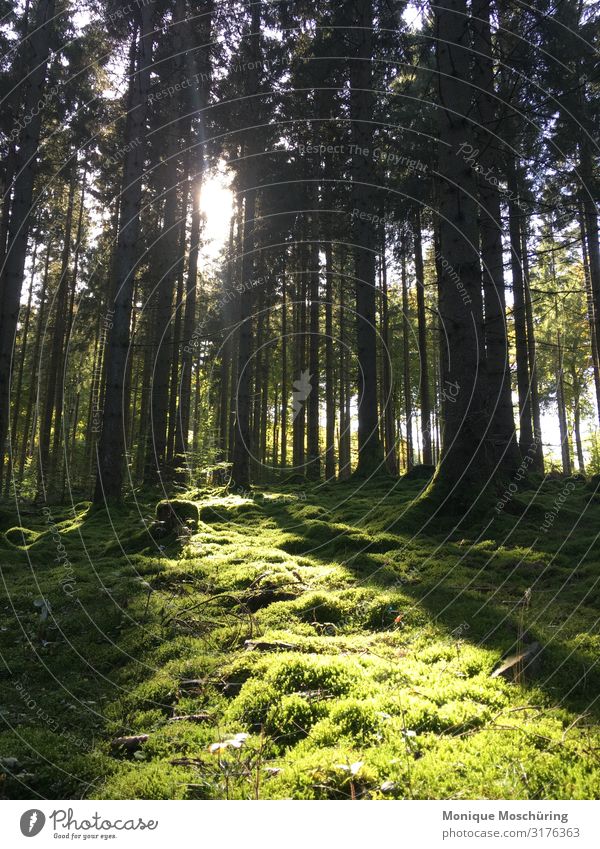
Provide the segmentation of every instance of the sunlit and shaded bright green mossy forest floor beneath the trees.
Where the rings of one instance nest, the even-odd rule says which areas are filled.
[[[0,797],[598,797],[600,496],[456,529],[422,483],[198,490],[156,543],[148,493],[6,503]]]

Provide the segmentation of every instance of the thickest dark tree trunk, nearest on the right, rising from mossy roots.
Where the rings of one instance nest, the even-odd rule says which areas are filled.
[[[472,136],[470,43],[465,0],[435,8],[439,87],[439,237],[442,266],[440,316],[448,338],[444,362],[444,437],[434,485],[481,484],[493,470],[488,420],[479,233],[470,169],[457,155]]]

